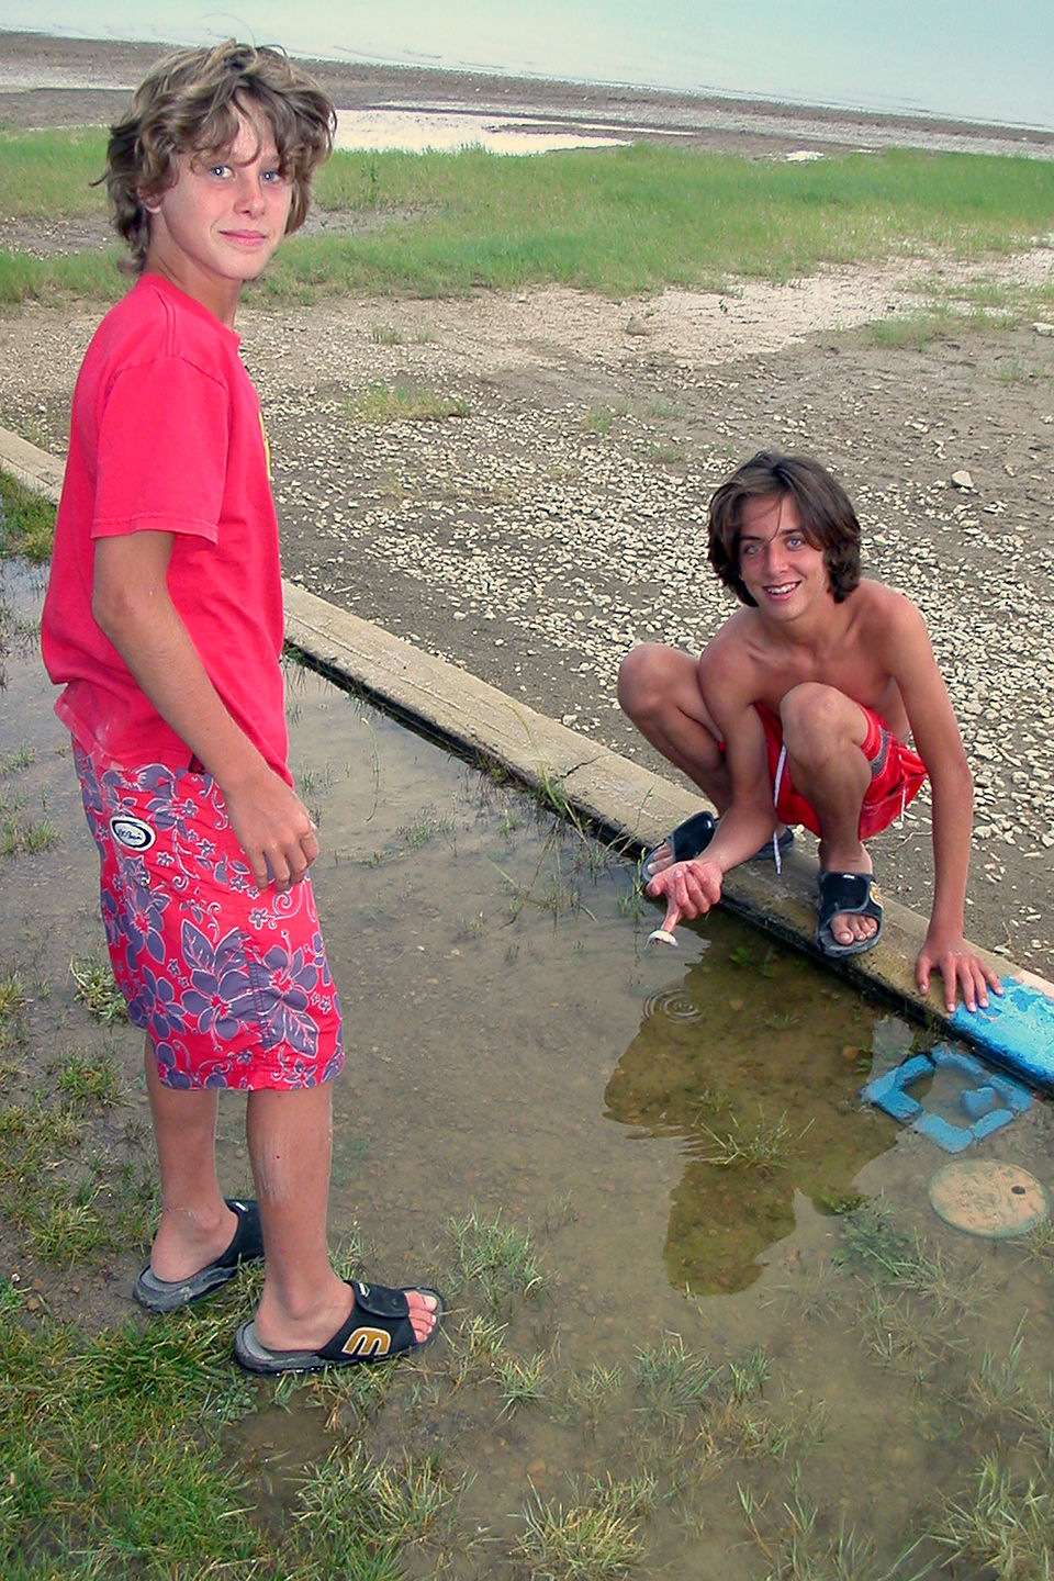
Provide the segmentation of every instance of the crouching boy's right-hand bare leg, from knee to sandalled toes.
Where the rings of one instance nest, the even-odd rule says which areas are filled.
[[[861,748],[864,711],[833,686],[806,681],[781,704],[787,764],[795,789],[812,805],[820,824],[820,868],[826,873],[872,873],[860,838],[860,811],[871,786],[871,764]],[[874,917],[839,912],[831,934],[839,944],[869,939]]]

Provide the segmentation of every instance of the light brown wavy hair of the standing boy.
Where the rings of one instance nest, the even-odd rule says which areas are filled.
[[[131,248],[125,266],[131,274],[142,274],[150,245],[145,201],[175,185],[180,153],[229,149],[245,111],[267,120],[281,174],[292,183],[286,236],[303,225],[311,177],[333,149],[337,112],[329,95],[281,49],[232,38],[185,49],[158,62],[128,114],[111,126],[101,180],[114,228]]]

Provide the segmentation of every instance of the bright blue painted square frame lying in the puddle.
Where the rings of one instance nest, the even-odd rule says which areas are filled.
[[[937,1070],[951,1070],[970,1083],[959,1094],[961,1124],[947,1115],[928,1110],[924,1102],[907,1091]],[[864,1104],[874,1104],[893,1119],[929,1137],[945,1153],[962,1153],[970,1143],[989,1137],[1000,1126],[1008,1126],[1018,1115],[1024,1115],[1032,1102],[1032,1094],[1019,1081],[988,1070],[973,1055],[964,1055],[947,1043],[940,1043],[928,1055],[912,1055],[896,1070],[868,1081],[860,1097]]]

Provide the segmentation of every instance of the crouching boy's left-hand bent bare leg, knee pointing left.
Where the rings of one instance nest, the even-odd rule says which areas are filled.
[[[618,702],[640,734],[724,813],[732,787],[698,689],[697,661],[657,642],[642,643],[619,666]]]

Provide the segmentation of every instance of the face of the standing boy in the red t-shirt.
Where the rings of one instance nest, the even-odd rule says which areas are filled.
[[[262,272],[286,234],[291,201],[270,125],[239,111],[231,147],[180,153],[175,185],[147,202],[147,270],[232,324],[242,285]]]

